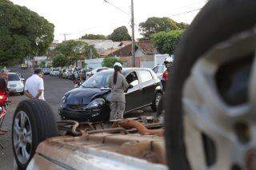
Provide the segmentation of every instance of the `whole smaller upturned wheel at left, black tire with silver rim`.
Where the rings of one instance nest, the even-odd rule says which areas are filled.
[[[18,168],[26,169],[38,144],[57,135],[54,113],[46,101],[20,102],[12,124],[12,145]]]

